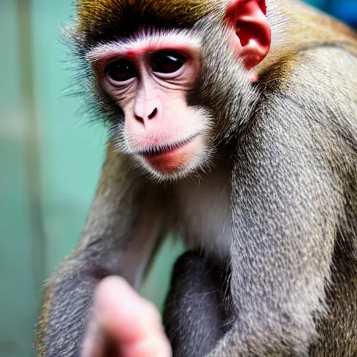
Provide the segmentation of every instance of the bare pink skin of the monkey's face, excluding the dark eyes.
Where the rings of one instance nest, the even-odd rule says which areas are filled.
[[[192,161],[202,145],[202,123],[195,121],[195,109],[186,104],[186,93],[195,84],[199,69],[197,41],[174,35],[156,43],[145,38],[136,43],[100,47],[89,59],[100,57],[99,68],[126,59],[136,75],[125,82],[104,75],[106,91],[125,114],[125,133],[130,152],[139,155],[158,172],[175,172]],[[184,57],[172,73],[153,70],[153,56],[170,51]],[[197,110],[197,109],[196,109]]]

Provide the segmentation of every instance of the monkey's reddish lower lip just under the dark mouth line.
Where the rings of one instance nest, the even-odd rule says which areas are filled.
[[[141,155],[154,169],[161,172],[176,172],[183,169],[195,157],[199,135],[180,142],[153,146]]]

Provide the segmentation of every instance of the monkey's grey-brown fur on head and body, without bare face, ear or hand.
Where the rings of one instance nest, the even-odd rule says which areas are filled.
[[[121,112],[93,84],[119,138],[82,240],[47,282],[38,355],[79,356],[100,279],[138,287],[171,229],[192,249],[176,263],[165,309],[174,356],[357,356],[356,34],[271,1],[273,46],[251,84],[225,37],[227,1],[164,2],[79,0],[77,54],[142,24],[201,34],[188,103],[212,118],[215,155],[198,177],[153,183],[120,153]],[[213,254],[227,236],[229,256]]]

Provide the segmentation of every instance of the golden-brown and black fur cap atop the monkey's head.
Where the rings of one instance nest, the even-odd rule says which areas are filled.
[[[86,45],[128,36],[140,27],[190,29],[225,0],[76,0],[77,31]]]

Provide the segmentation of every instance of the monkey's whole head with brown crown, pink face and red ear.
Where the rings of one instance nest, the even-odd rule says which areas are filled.
[[[265,0],[77,0],[75,44],[116,149],[157,179],[209,165],[254,110]],[[93,91],[94,89],[94,91]]]

